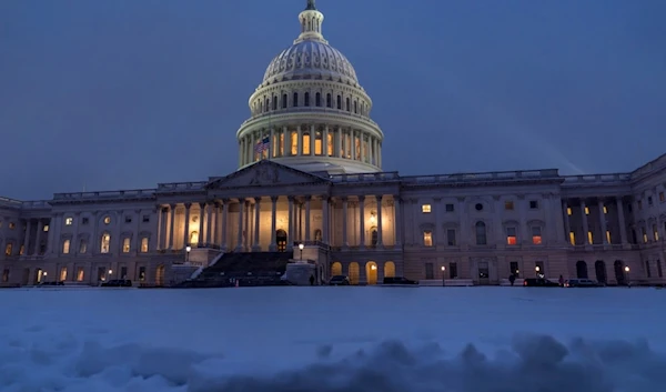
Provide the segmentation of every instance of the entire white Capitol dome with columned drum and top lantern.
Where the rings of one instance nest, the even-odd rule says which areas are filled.
[[[384,134],[356,71],[322,34],[324,14],[307,0],[301,33],[266,68],[239,131],[239,168],[264,159],[307,172],[381,171]]]

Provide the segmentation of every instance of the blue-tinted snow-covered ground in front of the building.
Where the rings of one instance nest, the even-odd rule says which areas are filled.
[[[0,290],[0,391],[659,391],[666,290]]]

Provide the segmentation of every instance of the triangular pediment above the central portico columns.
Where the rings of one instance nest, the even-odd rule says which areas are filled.
[[[214,179],[209,182],[208,188],[282,187],[314,183],[325,184],[329,181],[315,174],[264,160],[226,177]]]

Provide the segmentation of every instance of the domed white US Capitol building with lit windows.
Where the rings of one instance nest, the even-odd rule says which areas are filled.
[[[238,171],[2,198],[0,284],[163,284],[230,252],[291,252],[317,265],[317,280],[360,284],[393,275],[500,284],[512,273],[663,281],[666,155],[615,174],[384,172],[372,100],[324,39],[313,0],[299,21],[250,97]]]

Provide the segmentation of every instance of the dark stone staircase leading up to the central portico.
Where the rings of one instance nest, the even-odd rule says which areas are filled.
[[[176,288],[228,288],[284,285],[281,278],[286,271],[290,253],[251,252],[224,253],[214,264],[196,277],[176,284]]]

